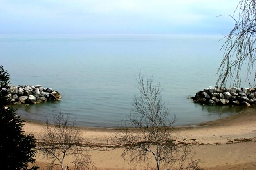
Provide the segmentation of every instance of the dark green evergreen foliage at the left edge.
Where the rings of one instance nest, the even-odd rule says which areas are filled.
[[[24,120],[17,115],[16,109],[5,108],[7,97],[4,90],[9,85],[9,73],[0,66],[0,157],[2,170],[27,170],[28,163],[34,163],[36,139],[33,135],[24,135]],[[37,170],[33,166],[28,170]]]

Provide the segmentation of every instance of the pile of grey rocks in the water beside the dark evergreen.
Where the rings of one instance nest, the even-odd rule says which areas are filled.
[[[60,100],[61,94],[52,88],[43,88],[41,85],[36,86],[13,86],[2,88],[4,95],[9,97],[9,102],[13,104],[37,104],[47,100]]]

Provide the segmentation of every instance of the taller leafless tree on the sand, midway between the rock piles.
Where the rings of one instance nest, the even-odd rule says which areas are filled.
[[[153,156],[157,170],[161,165],[199,170],[200,159],[194,159],[195,150],[172,128],[175,117],[168,118],[169,109],[162,102],[161,84],[154,84],[152,77],[144,83],[141,74],[136,80],[140,95],[133,97],[130,117],[111,138],[112,142],[125,147],[122,157],[149,161]]]

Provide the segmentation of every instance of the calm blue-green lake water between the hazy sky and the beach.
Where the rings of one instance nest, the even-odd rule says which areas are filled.
[[[139,71],[162,84],[175,125],[233,115],[243,108],[191,103],[215,86],[223,41],[217,35],[0,35],[0,65],[14,85],[51,87],[62,100],[18,105],[22,118],[43,121],[61,110],[79,126],[115,127],[130,115]]]

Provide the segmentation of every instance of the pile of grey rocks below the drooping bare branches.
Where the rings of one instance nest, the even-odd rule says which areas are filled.
[[[203,91],[196,93],[192,97],[193,102],[209,105],[225,105],[231,106],[246,105],[256,103],[256,89],[255,88],[213,88],[208,87]]]

